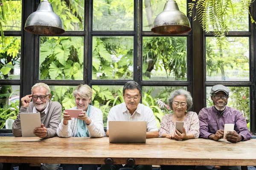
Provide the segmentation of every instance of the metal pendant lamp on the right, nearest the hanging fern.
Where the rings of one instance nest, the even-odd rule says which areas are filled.
[[[191,31],[191,26],[188,17],[179,10],[175,0],[169,0],[163,12],[154,20],[151,31],[156,34],[183,34]]]

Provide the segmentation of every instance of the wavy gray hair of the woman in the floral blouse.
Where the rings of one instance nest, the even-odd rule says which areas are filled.
[[[178,90],[172,91],[170,97],[167,99],[168,105],[172,109],[172,111],[173,111],[173,108],[172,108],[173,99],[176,96],[180,96],[180,95],[184,95],[186,97],[186,99],[187,99],[187,110],[192,108],[193,99],[192,99],[192,96],[191,96],[190,92],[189,91],[185,91],[183,89],[178,89]]]

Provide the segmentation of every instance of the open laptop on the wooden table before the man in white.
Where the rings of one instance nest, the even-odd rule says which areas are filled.
[[[146,121],[109,121],[109,142],[111,143],[145,143]]]

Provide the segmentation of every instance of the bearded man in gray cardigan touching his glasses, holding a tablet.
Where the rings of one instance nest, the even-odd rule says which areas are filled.
[[[56,130],[61,122],[61,104],[52,102],[51,91],[47,84],[35,84],[29,95],[21,98],[21,107],[19,113],[40,113],[41,127],[34,129],[35,136],[40,138],[51,138],[56,136]],[[31,100],[33,101],[31,102]],[[20,114],[13,122],[12,133],[14,136],[22,136],[20,126]],[[22,164],[21,167],[28,169],[27,164]],[[58,170],[59,164],[42,164],[44,170]],[[20,168],[22,169],[22,168]]]

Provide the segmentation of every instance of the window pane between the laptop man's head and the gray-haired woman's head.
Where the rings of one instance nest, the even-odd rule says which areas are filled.
[[[187,90],[186,87],[161,87],[151,86],[142,88],[142,103],[152,109],[155,119],[157,121],[157,127],[160,127],[160,122],[166,113],[172,113],[168,106],[167,99],[172,91],[177,89]]]

